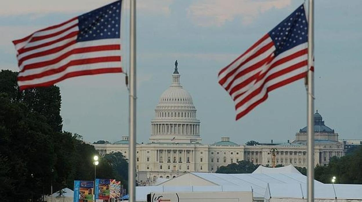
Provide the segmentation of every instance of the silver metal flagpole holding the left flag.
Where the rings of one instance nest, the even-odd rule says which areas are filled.
[[[128,164],[129,201],[136,201],[136,0],[130,0],[130,150]]]

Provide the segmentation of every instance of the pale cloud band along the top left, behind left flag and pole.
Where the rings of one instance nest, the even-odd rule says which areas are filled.
[[[34,14],[34,18],[47,13],[72,13],[87,12],[103,5],[112,3],[114,0],[16,0],[1,1],[0,16],[16,16],[20,14]],[[123,6],[129,8],[129,1],[124,1]],[[157,14],[169,14],[169,6],[173,0],[140,0],[137,1],[137,9],[141,12]],[[127,11],[129,13],[129,11]]]

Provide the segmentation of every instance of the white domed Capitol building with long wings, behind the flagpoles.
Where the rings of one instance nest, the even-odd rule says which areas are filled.
[[[307,167],[307,127],[295,134],[294,141],[264,143],[248,146],[221,137],[211,145],[202,144],[201,121],[192,97],[180,83],[177,67],[172,82],[159,99],[155,117],[151,121],[151,136],[148,143],[136,146],[136,169],[150,181],[157,178],[173,178],[185,172],[215,172],[240,160],[271,166],[275,164]],[[338,134],[324,124],[318,111],[314,115],[315,164],[328,164],[332,156],[343,156],[344,145]],[[101,154],[122,152],[128,158],[128,136],[112,144],[93,144]],[[271,149],[275,157],[272,157]]]

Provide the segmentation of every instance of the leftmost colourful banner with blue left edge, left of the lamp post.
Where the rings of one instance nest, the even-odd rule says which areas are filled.
[[[74,199],[73,202],[93,201],[93,181],[74,181]]]

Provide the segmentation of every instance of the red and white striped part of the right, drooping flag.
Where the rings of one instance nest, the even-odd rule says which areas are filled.
[[[274,56],[275,46],[264,35],[219,72],[219,83],[235,102],[236,120],[268,98],[268,92],[304,78],[308,70],[308,43]]]

